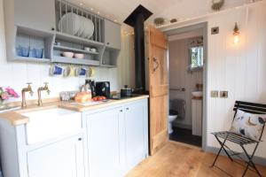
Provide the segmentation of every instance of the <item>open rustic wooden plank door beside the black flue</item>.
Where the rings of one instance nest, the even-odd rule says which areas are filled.
[[[155,27],[148,29],[150,84],[150,154],[168,141],[168,40]]]

